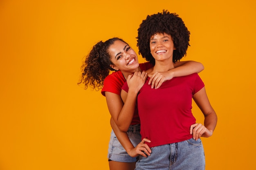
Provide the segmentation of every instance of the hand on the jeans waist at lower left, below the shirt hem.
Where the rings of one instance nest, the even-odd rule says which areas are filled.
[[[137,157],[138,155],[142,155],[143,157],[147,157],[147,155],[150,156],[151,150],[150,150],[149,146],[147,144],[145,144],[145,142],[150,143],[151,141],[146,138],[142,139],[142,141],[135,148],[131,149],[128,152],[128,154],[131,157]]]

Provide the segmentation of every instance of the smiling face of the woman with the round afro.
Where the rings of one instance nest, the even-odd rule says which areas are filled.
[[[150,38],[150,52],[156,61],[173,60],[173,40],[171,35],[156,33]]]

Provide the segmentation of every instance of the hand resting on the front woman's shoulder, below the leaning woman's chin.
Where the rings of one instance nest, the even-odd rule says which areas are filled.
[[[148,74],[145,71],[135,71],[132,75],[128,75],[127,84],[129,87],[129,91],[139,92],[141,87],[144,85]]]

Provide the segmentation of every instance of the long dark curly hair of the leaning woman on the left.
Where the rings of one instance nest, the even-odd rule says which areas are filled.
[[[96,91],[103,87],[104,79],[109,75],[110,71],[115,71],[115,69],[110,67],[110,64],[113,63],[110,61],[108,49],[117,40],[126,43],[120,38],[111,38],[105,42],[100,41],[93,46],[85,58],[84,64],[81,66],[81,82],[77,84],[84,84],[85,89],[90,86]]]

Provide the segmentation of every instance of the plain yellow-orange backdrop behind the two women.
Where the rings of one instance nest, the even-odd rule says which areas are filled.
[[[110,115],[99,91],[76,84],[82,58],[114,36],[137,51],[139,24],[163,9],[191,31],[182,60],[204,64],[218,114],[206,169],[256,169],[254,0],[1,0],[0,169],[108,169]]]

